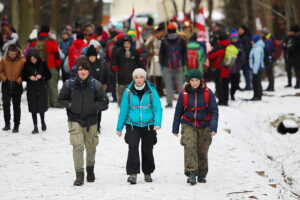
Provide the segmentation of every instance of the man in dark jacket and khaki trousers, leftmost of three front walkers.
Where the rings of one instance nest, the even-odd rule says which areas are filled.
[[[78,74],[67,80],[58,102],[67,108],[70,142],[76,172],[75,186],[84,183],[83,151],[86,148],[87,181],[94,182],[94,164],[98,145],[97,112],[108,108],[108,97],[100,82],[90,77],[88,60],[77,62]]]

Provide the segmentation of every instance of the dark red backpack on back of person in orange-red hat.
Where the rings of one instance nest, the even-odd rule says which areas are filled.
[[[180,39],[178,39],[175,44],[169,44],[169,42],[165,40],[165,45],[167,47],[167,59],[168,59],[169,69],[178,69],[181,67],[180,66],[181,55],[179,52],[179,43],[180,43]]]

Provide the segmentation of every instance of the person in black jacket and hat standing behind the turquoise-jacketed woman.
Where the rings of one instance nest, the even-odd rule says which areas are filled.
[[[132,72],[136,68],[144,68],[138,50],[132,47],[133,41],[129,35],[123,38],[123,46],[116,49],[112,58],[112,71],[117,72],[117,99],[120,106],[123,93],[132,81]]]

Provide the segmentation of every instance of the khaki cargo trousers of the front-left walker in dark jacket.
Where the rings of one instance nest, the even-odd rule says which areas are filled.
[[[86,149],[86,165],[95,165],[96,147],[99,142],[97,124],[89,127],[81,126],[78,122],[69,121],[70,142],[73,145],[73,161],[76,172],[84,171],[84,147]]]

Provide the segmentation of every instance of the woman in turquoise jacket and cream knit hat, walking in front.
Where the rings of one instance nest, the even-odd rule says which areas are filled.
[[[153,84],[146,81],[146,71],[137,68],[132,73],[133,82],[125,90],[120,106],[117,135],[122,135],[126,126],[125,142],[129,146],[126,171],[128,182],[136,184],[140,173],[139,142],[142,140],[142,171],[146,182],[152,182],[155,169],[153,145],[156,131],[161,127],[162,108],[159,95]]]

